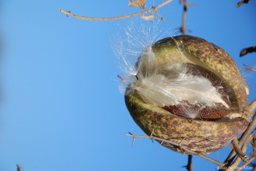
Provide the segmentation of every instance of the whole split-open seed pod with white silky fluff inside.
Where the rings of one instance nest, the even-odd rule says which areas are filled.
[[[148,47],[125,102],[133,120],[150,135],[198,153],[227,146],[247,128],[242,112],[248,86],[235,61],[220,47],[179,35]],[[173,151],[180,147],[163,143]]]

